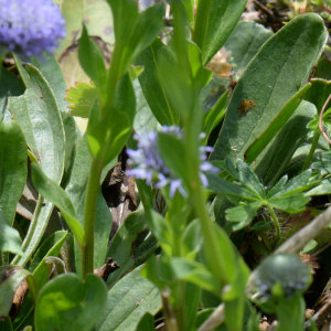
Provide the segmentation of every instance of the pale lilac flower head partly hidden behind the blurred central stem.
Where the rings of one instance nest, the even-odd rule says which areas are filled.
[[[162,132],[169,135],[175,135],[179,139],[183,138],[183,134],[180,127],[163,126]],[[183,188],[183,182],[178,179],[169,169],[164,161],[162,160],[159,147],[158,147],[158,132],[150,131],[148,135],[138,136],[135,135],[135,139],[138,141],[138,149],[128,149],[127,153],[130,158],[130,163],[136,166],[135,169],[127,170],[129,177],[135,177],[136,179],[143,179],[148,185],[153,184],[154,189],[163,188],[170,184],[170,196],[173,197],[175,191],[178,190],[183,196],[186,196],[186,192]],[[206,152],[211,152],[213,149],[211,147],[200,148],[200,178],[202,184],[207,186],[209,181],[203,172],[218,172],[218,168],[213,167],[206,161]]]

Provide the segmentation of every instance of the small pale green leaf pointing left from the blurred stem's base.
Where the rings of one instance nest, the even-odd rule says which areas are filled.
[[[173,257],[170,259],[170,264],[177,278],[195,284],[202,289],[220,296],[222,284],[203,264],[183,257]]]

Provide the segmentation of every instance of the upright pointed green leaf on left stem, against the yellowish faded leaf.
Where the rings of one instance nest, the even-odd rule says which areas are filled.
[[[79,41],[78,57],[83,70],[95,83],[99,97],[104,102],[106,98],[105,94],[107,81],[105,60],[102,51],[88,38],[85,25],[83,25],[83,32]]]

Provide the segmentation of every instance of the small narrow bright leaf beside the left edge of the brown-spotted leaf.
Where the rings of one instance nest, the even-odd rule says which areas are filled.
[[[203,131],[206,135],[206,139],[225,116],[228,93],[229,89],[223,93],[213,108],[205,115]]]

